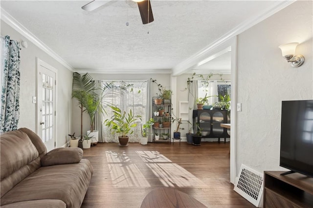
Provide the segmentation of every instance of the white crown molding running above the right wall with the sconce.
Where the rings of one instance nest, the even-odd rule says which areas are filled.
[[[203,59],[208,58],[209,56],[213,55],[213,52],[225,44],[226,42],[230,41],[233,37],[239,35],[240,33],[246,31],[250,27],[256,25],[257,23],[267,19],[268,17],[272,16],[276,12],[284,9],[285,7],[289,6],[291,3],[295,2],[296,0],[284,0],[280,4],[264,11],[262,14],[252,17],[243,23],[239,24],[237,27],[234,29],[230,30],[227,32],[224,36],[213,42],[212,44],[208,45],[207,47],[203,48],[201,51],[197,52],[196,54],[192,55],[188,59],[186,59],[183,62],[180,62],[178,65],[176,65],[172,71],[173,71],[173,76],[178,76],[180,74],[183,74],[184,72],[190,70],[201,62]]]

